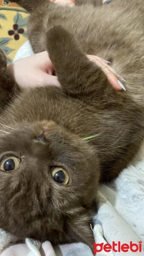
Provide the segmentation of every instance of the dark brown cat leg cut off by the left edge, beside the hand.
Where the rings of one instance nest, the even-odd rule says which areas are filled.
[[[0,113],[10,102],[16,90],[18,87],[7,72],[6,56],[0,49]]]

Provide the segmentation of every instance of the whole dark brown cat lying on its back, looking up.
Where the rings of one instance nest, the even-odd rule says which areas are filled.
[[[61,89],[20,90],[0,52],[0,228],[92,249],[98,185],[117,177],[143,142],[143,1],[11,2],[31,13],[32,48],[49,52]],[[127,90],[115,90],[85,54],[110,60]]]

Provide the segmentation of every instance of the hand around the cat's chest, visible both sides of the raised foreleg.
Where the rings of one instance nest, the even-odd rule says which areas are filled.
[[[107,61],[94,55],[87,55],[87,57],[101,67],[112,87],[116,90],[125,90],[121,84],[121,81],[124,80],[118,76],[112,67],[108,66]],[[57,76],[53,76],[55,68],[46,51],[15,61],[8,66],[8,72],[16,83],[24,89],[49,85],[60,87]]]

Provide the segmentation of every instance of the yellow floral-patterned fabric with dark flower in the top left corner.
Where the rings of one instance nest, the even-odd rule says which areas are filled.
[[[12,63],[14,55],[27,40],[29,14],[9,0],[0,0],[0,48]]]

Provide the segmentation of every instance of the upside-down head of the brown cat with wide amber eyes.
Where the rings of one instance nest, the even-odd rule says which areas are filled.
[[[13,127],[0,137],[0,227],[52,243],[92,243],[89,206],[99,166],[82,139],[54,122]]]

